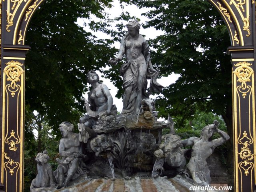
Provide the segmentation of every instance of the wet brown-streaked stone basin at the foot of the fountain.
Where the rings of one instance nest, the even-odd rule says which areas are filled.
[[[174,178],[130,178],[112,180],[92,179],[82,176],[66,188],[36,188],[33,192],[195,192],[189,190],[192,182],[180,175]],[[216,192],[217,190],[196,190],[196,192]],[[219,190],[220,191],[220,190]],[[222,191],[220,191],[222,192]]]

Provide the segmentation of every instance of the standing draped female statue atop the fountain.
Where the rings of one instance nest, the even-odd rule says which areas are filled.
[[[151,64],[149,45],[139,34],[139,22],[129,21],[126,27],[128,33],[122,38],[118,55],[109,62],[116,64],[126,55],[126,63],[120,68],[124,88],[122,114],[138,114],[142,99],[148,97],[147,78],[151,79],[151,92],[158,93],[163,87],[156,82],[159,72]]]

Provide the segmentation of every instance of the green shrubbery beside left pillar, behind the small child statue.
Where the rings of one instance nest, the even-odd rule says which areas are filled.
[[[24,191],[30,191],[30,184],[37,174],[37,163],[35,161],[36,155],[44,150],[47,150],[50,157],[49,163],[52,165],[52,170],[57,169],[56,158],[58,154],[58,140],[56,135],[51,132],[52,127],[48,124],[47,116],[40,114],[26,114],[26,139],[24,150]],[[34,131],[38,135],[34,136]],[[28,137],[29,136],[29,137]]]

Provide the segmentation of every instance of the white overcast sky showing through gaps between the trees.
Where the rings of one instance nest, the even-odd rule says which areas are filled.
[[[110,13],[110,18],[114,18],[115,16],[119,16],[122,13],[122,11],[124,11],[124,12],[127,11],[127,12],[130,13],[130,16],[135,16],[136,18],[140,18],[140,24],[146,22],[146,20],[147,20],[147,18],[145,16],[141,15],[143,12],[146,12],[147,9],[142,10],[142,9],[137,8],[135,5],[129,5],[129,6],[125,6],[124,10],[122,10],[118,0],[114,0],[114,3],[112,3],[112,4],[114,5],[114,7],[111,10],[106,10],[106,12]],[[96,18],[92,17],[92,19],[96,19]],[[83,26],[83,23],[84,23],[84,20],[79,18],[78,19],[78,24],[80,26]],[[126,21],[124,21],[124,24],[126,24]],[[88,28],[86,28],[86,30],[88,31]],[[96,33],[92,32],[92,33],[95,34],[95,36],[97,36],[98,38],[101,38],[101,39],[110,38],[110,36],[108,37],[106,34],[104,34],[102,32],[96,32]],[[149,40],[150,38],[152,39],[152,38],[155,38],[156,36],[158,36],[160,34],[163,34],[163,32],[157,31],[155,28],[147,28],[147,29],[140,28],[140,34],[145,35],[145,39]],[[120,42],[116,42],[113,46],[115,46],[116,48],[119,48],[120,47]],[[115,55],[113,55],[113,57],[114,56]],[[168,77],[162,77],[161,79],[158,79],[158,83],[160,83],[162,86],[166,87],[166,86],[169,86],[170,84],[174,83],[177,80],[177,78],[178,78],[177,74],[171,74]],[[103,83],[106,84],[108,86],[108,88],[110,89],[110,93],[111,93],[111,95],[114,99],[114,104],[116,104],[118,111],[121,112],[122,111],[122,99],[115,98],[115,95],[117,93],[117,88],[108,79],[100,78],[100,80],[103,80]],[[148,82],[148,86],[149,86],[149,82]],[[88,96],[86,94],[85,98],[87,98],[87,97]],[[154,96],[154,97],[156,97],[156,96]],[[154,97],[152,97],[152,98],[154,98]]]

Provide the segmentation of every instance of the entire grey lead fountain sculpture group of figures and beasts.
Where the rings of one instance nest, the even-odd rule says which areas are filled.
[[[79,134],[73,132],[74,126],[70,122],[60,124],[59,153],[62,159],[57,159],[59,165],[54,171],[55,177],[50,179],[51,182],[48,179],[38,183],[37,176],[31,191],[40,191],[41,187],[67,187],[81,177],[115,180],[145,176],[157,179],[178,174],[184,175],[183,182],[193,185],[210,183],[206,158],[229,136],[219,130],[218,122],[214,121],[202,130],[200,138],[182,141],[174,134],[170,117],[168,123],[157,121],[155,103],[149,99],[149,94],[158,93],[163,88],[156,82],[159,72],[152,66],[149,45],[139,34],[138,21],[130,21],[126,26],[128,33],[122,38],[118,55],[109,60],[110,64],[116,64],[126,55],[126,63],[120,68],[124,88],[122,113],[117,114],[108,87],[99,82],[98,74],[89,71],[87,80],[91,90],[88,101],[82,99],[87,114],[79,120]],[[151,79],[149,92],[146,92],[147,78]],[[170,133],[162,136],[164,128],[170,128]],[[214,132],[222,137],[210,141]],[[186,165],[182,147],[189,145],[192,145],[192,158]],[[50,172],[50,168],[45,169]],[[38,170],[38,175],[46,170]],[[191,179],[186,178],[186,174]]]

